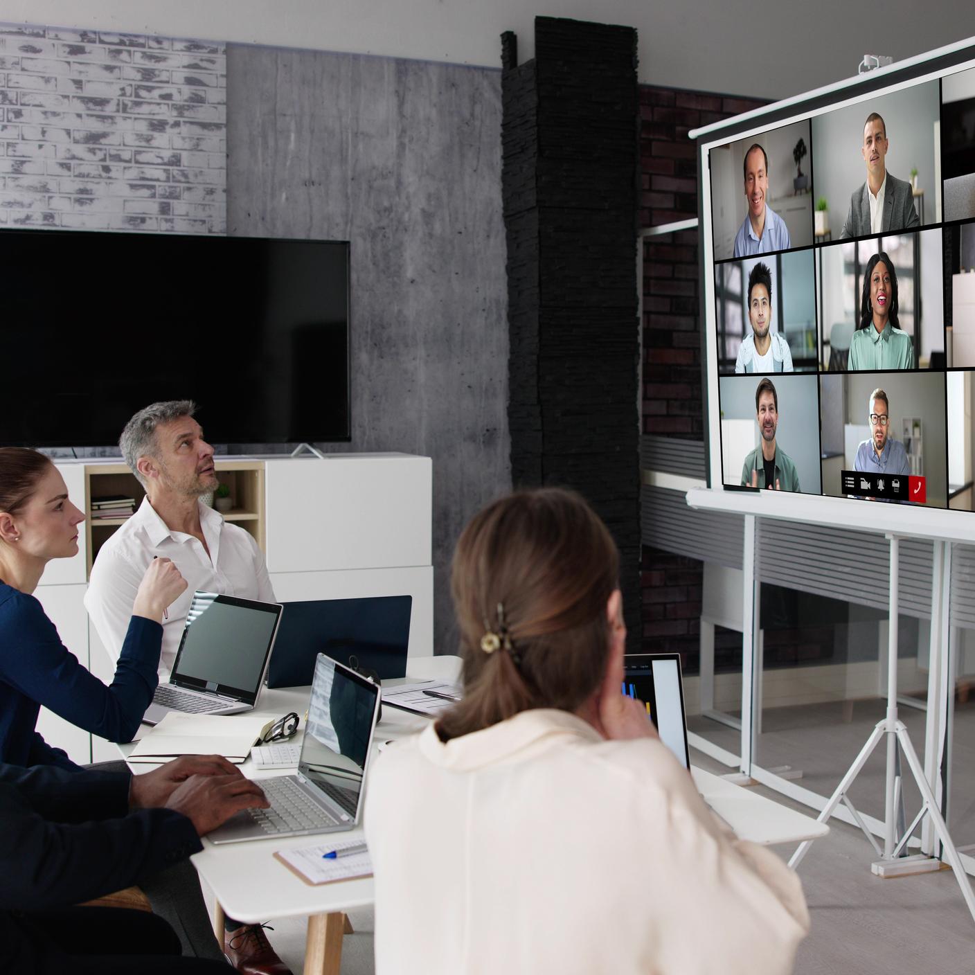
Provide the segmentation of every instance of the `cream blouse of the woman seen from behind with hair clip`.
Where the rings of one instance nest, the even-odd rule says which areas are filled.
[[[777,975],[809,929],[659,741],[564,711],[391,746],[365,824],[378,975]]]

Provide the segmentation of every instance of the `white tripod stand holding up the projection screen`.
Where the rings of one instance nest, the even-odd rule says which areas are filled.
[[[908,839],[911,838],[911,834],[917,828],[917,824],[920,823],[925,815],[930,816],[931,824],[934,826],[938,839],[941,840],[948,862],[955,871],[958,886],[961,888],[961,896],[964,897],[968,911],[972,919],[975,920],[975,895],[972,894],[971,884],[968,882],[964,868],[961,866],[961,860],[958,857],[955,843],[952,842],[952,838],[948,835],[948,826],[945,823],[944,817],[941,815],[938,802],[935,800],[934,794],[931,792],[931,787],[924,777],[924,769],[921,767],[920,762],[917,761],[917,753],[911,744],[908,729],[904,725],[904,722],[899,721],[897,718],[897,612],[900,540],[896,535],[887,535],[887,538],[890,540],[890,624],[888,631],[889,639],[887,642],[887,715],[882,721],[877,722],[877,726],[867,739],[867,744],[864,745],[863,750],[856,757],[856,761],[850,765],[846,774],[842,777],[839,786],[837,786],[837,791],[833,794],[830,801],[826,803],[825,808],[817,818],[819,822],[825,823],[833,815],[833,810],[836,809],[840,801],[843,802],[864,835],[870,840],[870,844],[877,851],[878,856],[881,857],[878,863],[874,864],[874,873],[879,874],[881,877],[890,877],[897,874],[922,873],[940,868],[940,861],[933,857],[918,855],[898,859],[901,850],[904,849]],[[860,769],[863,768],[866,761],[873,754],[874,749],[883,740],[884,735],[887,737],[887,775],[883,815],[883,850],[881,851],[877,840],[874,839],[871,832],[867,829],[860,813],[853,808],[853,804],[850,802],[846,793],[857,775],[860,774]],[[914,775],[922,800],[920,811],[900,839],[897,838],[896,822],[897,788],[899,786],[899,776],[896,768],[898,743],[900,743],[904,757],[907,759],[911,773]],[[811,845],[810,840],[800,844],[799,849],[796,850],[792,859],[789,861],[789,866],[793,869],[798,867],[802,857],[805,856],[806,850]]]

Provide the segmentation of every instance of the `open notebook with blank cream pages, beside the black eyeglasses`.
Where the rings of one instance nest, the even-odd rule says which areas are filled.
[[[128,761],[161,762],[179,755],[222,755],[241,762],[267,723],[266,714],[187,715],[171,711],[140,738]]]

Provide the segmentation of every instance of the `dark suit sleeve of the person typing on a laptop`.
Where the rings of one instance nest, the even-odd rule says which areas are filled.
[[[0,910],[38,911],[91,900],[131,886],[201,849],[193,824],[172,809],[142,809],[89,822],[51,822],[38,806],[57,806],[56,790],[40,779],[28,785],[21,789],[0,783]],[[104,787],[104,800],[117,804],[118,783]],[[92,795],[88,799],[85,811],[100,811],[101,802]],[[72,815],[80,818],[83,803],[75,804],[79,808]]]

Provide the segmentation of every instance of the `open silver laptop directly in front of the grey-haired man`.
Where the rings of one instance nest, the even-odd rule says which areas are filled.
[[[193,594],[173,673],[156,687],[142,718],[161,722],[171,711],[233,715],[257,701],[281,606],[236,596]]]

